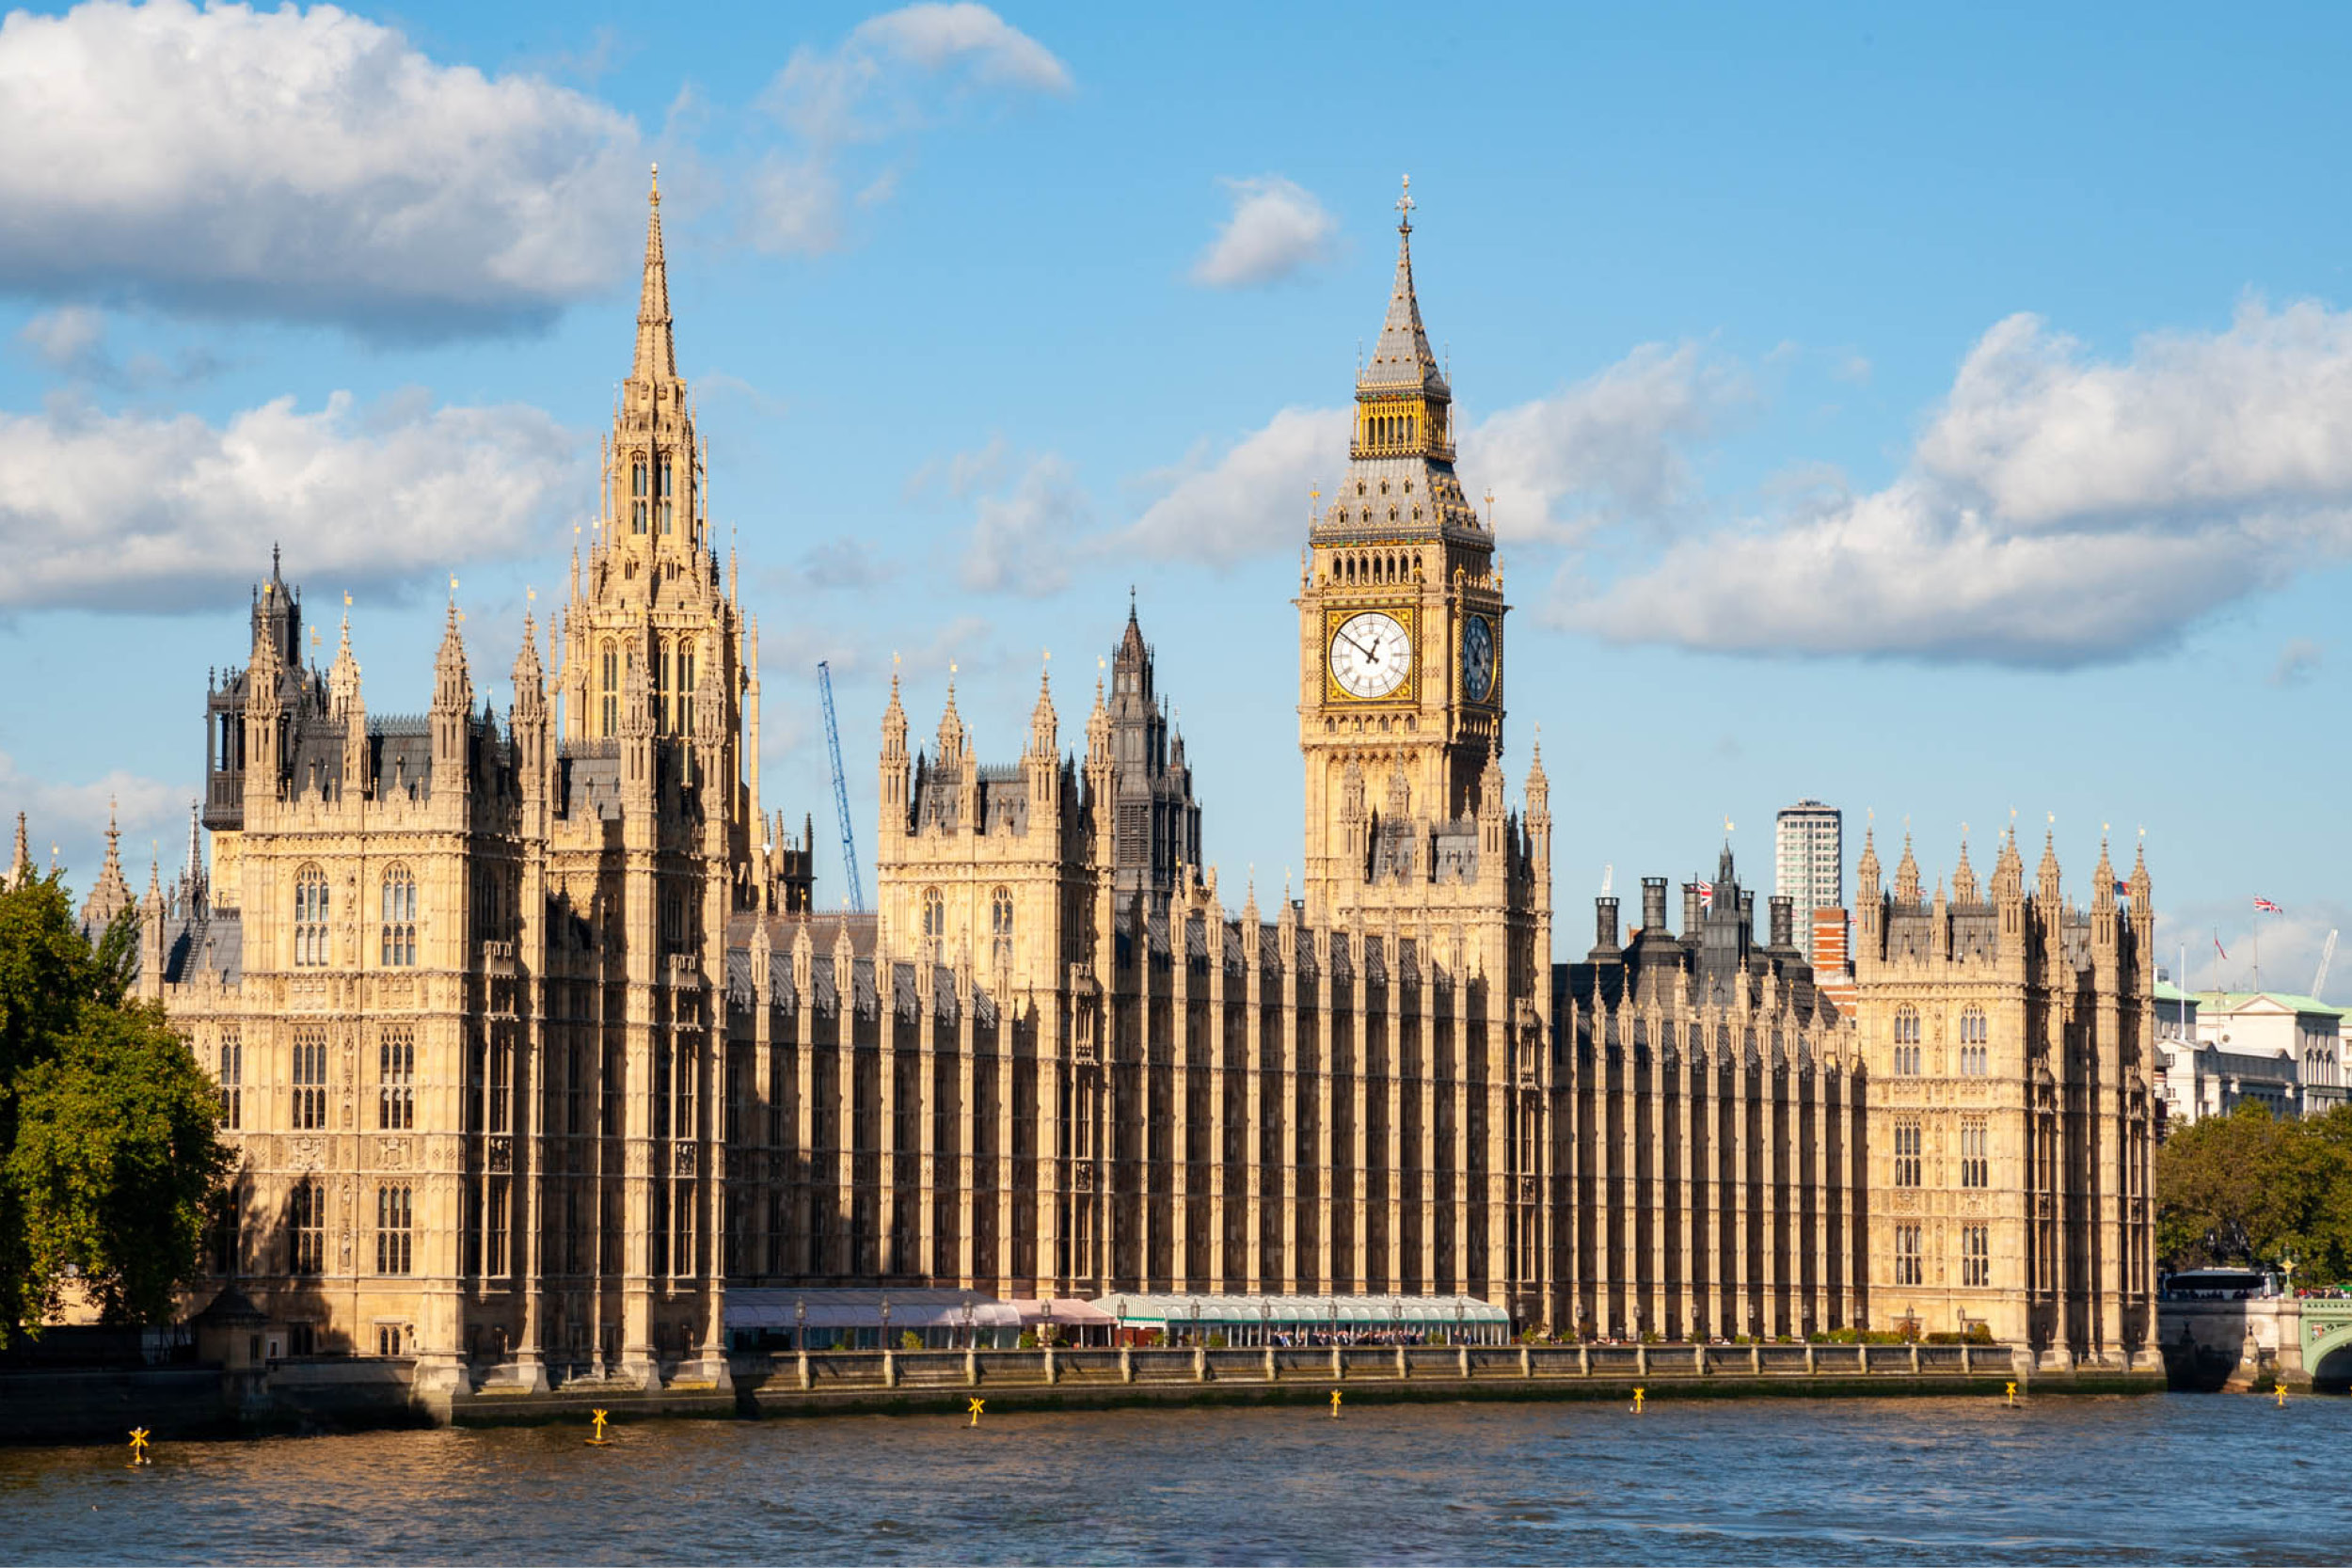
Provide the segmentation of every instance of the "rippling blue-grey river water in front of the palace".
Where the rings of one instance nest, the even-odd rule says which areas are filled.
[[[2319,1563],[2352,1399],[856,1415],[0,1450],[0,1561]]]

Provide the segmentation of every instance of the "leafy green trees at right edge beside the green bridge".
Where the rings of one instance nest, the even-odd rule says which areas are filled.
[[[2277,1265],[2296,1284],[2352,1281],[2352,1107],[2277,1121],[2258,1100],[2157,1150],[2157,1255],[2166,1267]]]

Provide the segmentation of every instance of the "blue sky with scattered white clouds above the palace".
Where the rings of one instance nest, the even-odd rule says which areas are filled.
[[[2147,830],[2164,943],[2305,985],[2345,903],[2340,7],[87,5],[0,26],[0,809],[87,882],[183,835],[270,541],[423,708],[510,698],[626,374],[661,160],[680,369],[873,835],[891,654],[1063,738],[1136,585],[1228,886],[1298,856],[1289,595],[1399,174],[1543,726],[1562,954],[1602,867],[1769,882],[1816,795],[1931,875]],[[332,637],[332,630],[329,630]],[[332,651],[332,649],[329,649]],[[2030,846],[2032,851],[2032,846]],[[1891,851],[1889,851],[1891,860]],[[870,856],[868,856],[870,863]],[[2336,999],[2352,999],[2352,961]]]

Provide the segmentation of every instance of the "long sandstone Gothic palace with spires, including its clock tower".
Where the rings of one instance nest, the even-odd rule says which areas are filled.
[[[294,1349],[419,1382],[724,1385],[736,1291],[1451,1295],[1519,1328],[2154,1335],[2145,856],[1856,867],[1851,985],[1785,898],[1642,884],[1552,961],[1541,748],[1454,473],[1411,223],[1298,578],[1305,872],[1240,907],[1129,614],[1084,738],[880,726],[873,914],[760,797],[661,197],[600,522],[513,705],[452,604],[423,717],[325,670],[280,569],[207,698],[202,837],[141,990],[219,1077],[214,1267]],[[1334,454],[1336,456],[1336,454]],[[1247,635],[1247,625],[1230,628]],[[1009,750],[1009,748],[1007,748]],[[134,903],[108,858],[94,903]],[[99,914],[108,914],[106,907]],[[1562,933],[1559,938],[1569,938]],[[1837,992],[1832,997],[1832,990]],[[202,1293],[200,1293],[202,1295]]]

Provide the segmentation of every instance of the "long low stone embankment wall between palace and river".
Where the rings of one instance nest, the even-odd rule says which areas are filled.
[[[2006,1345],[1494,1345],[1315,1349],[920,1349],[736,1356],[724,1382],[621,1378],[553,1389],[430,1396],[407,1363],[353,1356],[266,1371],[143,1368],[0,1375],[0,1441],[115,1441],[134,1425],[158,1439],[318,1432],[383,1425],[586,1422],[659,1415],[769,1418],[854,1410],[962,1413],[1145,1403],[1352,1403],[1449,1399],[1743,1399],[1990,1394],[2138,1394],[2164,1371],[2051,1371]]]

